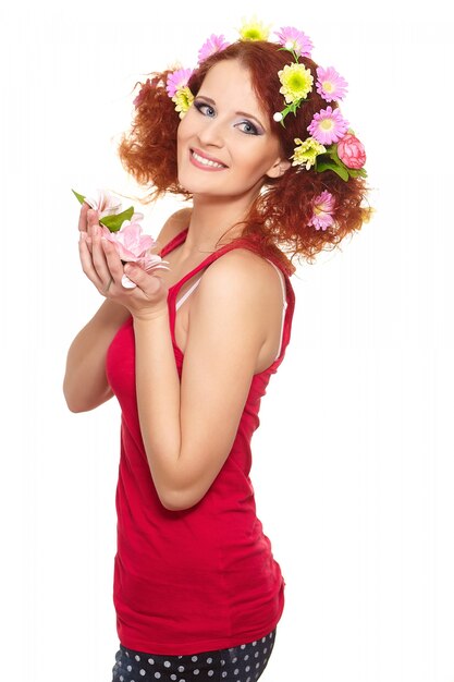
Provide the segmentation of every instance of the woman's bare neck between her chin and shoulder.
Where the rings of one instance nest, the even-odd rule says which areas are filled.
[[[212,253],[241,236],[244,228],[242,221],[256,196],[257,193],[253,196],[248,193],[247,196],[232,200],[232,197],[195,195],[182,257],[194,256],[196,253]]]

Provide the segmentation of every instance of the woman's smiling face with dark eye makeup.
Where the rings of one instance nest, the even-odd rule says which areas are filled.
[[[193,195],[255,196],[289,166],[249,72],[237,60],[216,64],[179,126],[180,184]]]

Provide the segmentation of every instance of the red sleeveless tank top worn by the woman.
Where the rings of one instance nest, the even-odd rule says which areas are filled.
[[[187,230],[177,234],[161,255],[182,244],[186,234]],[[180,376],[183,353],[174,336],[177,292],[234,247],[232,242],[210,254],[169,290]],[[257,251],[253,244],[250,248]],[[169,656],[228,648],[265,636],[281,618],[284,581],[256,515],[249,471],[260,399],[291,334],[295,299],[284,277],[287,306],[280,354],[268,369],[254,375],[232,450],[205,497],[191,509],[167,510],[151,479],[137,414],[132,317],[109,346],[107,377],[122,411],[113,602],[123,646]]]

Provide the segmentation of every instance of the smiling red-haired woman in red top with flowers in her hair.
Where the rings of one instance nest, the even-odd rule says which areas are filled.
[[[257,680],[282,614],[249,470],[291,334],[284,249],[310,259],[367,209],[345,82],[317,70],[307,36],[277,35],[211,36],[194,72],[142,85],[120,157],[150,198],[192,198],[158,236],[168,271],[123,267],[81,211],[83,270],[106,301],[71,345],[64,394],[74,412],[113,394],[122,409],[114,682]]]

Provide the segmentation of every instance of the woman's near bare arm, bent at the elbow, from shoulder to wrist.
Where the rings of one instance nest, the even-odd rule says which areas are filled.
[[[167,313],[134,318],[140,430],[158,495],[170,510],[204,497],[235,438],[267,336],[263,265],[251,258],[232,252],[204,275],[181,385]],[[154,385],[160,390],[150,391]]]

